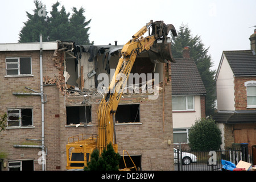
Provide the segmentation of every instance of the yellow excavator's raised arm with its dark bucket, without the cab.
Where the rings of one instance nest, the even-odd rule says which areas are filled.
[[[142,35],[150,31],[149,35],[143,38]],[[154,61],[167,63],[175,62],[171,54],[171,43],[167,42],[169,32],[177,36],[176,30],[172,24],[164,24],[163,21],[152,22],[152,20],[142,27],[133,39],[123,46],[121,58],[118,61],[114,76],[110,82],[108,93],[98,107],[98,149],[100,154],[106,145],[113,144],[117,152],[117,142],[115,138],[115,112],[122,96],[123,89],[126,86],[127,78],[133,68],[134,61],[140,53],[149,51],[149,55]],[[158,43],[160,42],[160,43]]]

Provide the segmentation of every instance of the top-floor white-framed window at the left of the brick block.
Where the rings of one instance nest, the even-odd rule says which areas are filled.
[[[31,57],[6,57],[6,75],[31,75]]]

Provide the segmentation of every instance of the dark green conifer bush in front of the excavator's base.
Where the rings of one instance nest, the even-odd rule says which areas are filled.
[[[90,155],[90,162],[87,163],[85,171],[118,171],[119,160],[121,156],[115,153],[111,143],[108,144],[107,149],[104,148],[102,154],[96,148]]]

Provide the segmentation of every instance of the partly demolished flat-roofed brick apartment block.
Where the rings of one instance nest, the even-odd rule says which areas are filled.
[[[122,46],[72,42],[0,44],[1,170],[65,170],[69,137],[97,133],[97,109]],[[158,73],[151,93],[124,93],[115,130],[118,152],[127,150],[143,170],[174,170],[171,67],[147,52],[131,73]],[[164,81],[164,86],[163,86]],[[140,86],[127,89],[141,89]],[[150,99],[151,96],[151,99]],[[195,100],[197,100],[195,98]]]

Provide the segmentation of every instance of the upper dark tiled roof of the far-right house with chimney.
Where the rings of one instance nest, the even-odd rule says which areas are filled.
[[[223,51],[234,76],[256,75],[256,55],[253,50]]]

